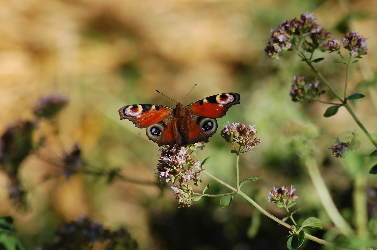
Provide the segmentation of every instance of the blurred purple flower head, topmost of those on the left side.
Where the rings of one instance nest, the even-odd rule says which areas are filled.
[[[34,114],[37,117],[52,118],[57,115],[68,103],[68,98],[52,94],[40,98],[38,104],[34,108]]]

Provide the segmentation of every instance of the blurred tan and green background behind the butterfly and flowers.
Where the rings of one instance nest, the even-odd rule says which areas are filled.
[[[377,3],[373,0],[2,1],[1,133],[17,121],[35,119],[33,108],[41,97],[58,93],[69,98],[69,104],[55,126],[38,125],[38,133],[46,135],[45,144],[21,164],[18,177],[28,191],[26,209],[16,209],[9,201],[9,179],[0,172],[0,215],[14,218],[16,236],[26,249],[52,241],[55,230],[81,215],[110,229],[128,228],[140,249],[286,249],[287,230],[241,197],[225,209],[218,198],[177,208],[170,185],[156,182],[157,145],[144,129],[119,120],[118,109],[125,105],[175,105],[156,89],[179,102],[194,84],[198,86],[184,104],[238,92],[241,105],[233,106],[219,124],[256,121],[261,144],[242,155],[241,179],[262,176],[244,186],[262,207],[284,217],[284,211],[267,203],[267,192],[272,186],[293,183],[298,206],[303,207],[298,216],[317,216],[331,227],[290,147],[292,137],[309,131],[316,138],[314,150],[326,184],[343,214],[351,215],[351,179],[328,147],[338,136],[342,141],[351,139],[354,130],[360,134],[361,152],[371,152],[373,145],[345,110],[324,118],[326,105],[291,102],[293,75],[314,80],[314,74],[293,53],[276,60],[263,50],[276,23],[308,11],[338,39],[350,30],[368,38],[368,55],[351,69],[349,94],[366,95],[353,108],[375,136]],[[345,68],[334,64],[336,55],[326,57],[317,67],[336,89],[342,89]],[[322,98],[332,100],[328,93]],[[59,174],[55,162],[75,143],[86,169],[120,169],[124,178],[109,184],[106,176],[90,171],[69,179]],[[230,150],[218,131],[198,156],[201,160],[211,156],[206,170],[235,185]],[[211,183],[209,193],[228,192],[206,177],[203,182]],[[375,183],[371,176],[369,186]],[[318,248],[308,242],[305,249]],[[95,249],[102,249],[101,244]]]

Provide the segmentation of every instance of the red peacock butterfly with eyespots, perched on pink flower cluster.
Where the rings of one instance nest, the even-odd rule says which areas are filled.
[[[225,115],[234,104],[239,104],[240,95],[223,93],[200,99],[175,108],[152,104],[127,105],[119,109],[120,120],[127,119],[136,127],[146,128],[147,136],[158,146],[186,145],[208,142],[216,133],[216,118]]]

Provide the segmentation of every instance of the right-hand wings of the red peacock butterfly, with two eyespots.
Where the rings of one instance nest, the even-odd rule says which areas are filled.
[[[223,117],[231,106],[239,104],[239,98],[237,93],[223,93],[187,105],[185,110],[188,131],[184,141],[192,144],[207,142],[218,128],[215,118]]]

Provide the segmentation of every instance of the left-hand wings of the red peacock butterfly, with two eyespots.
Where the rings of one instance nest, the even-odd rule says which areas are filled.
[[[127,105],[119,109],[119,115],[120,120],[127,119],[136,127],[145,127],[148,138],[158,146],[182,144],[173,108],[151,104]]]

